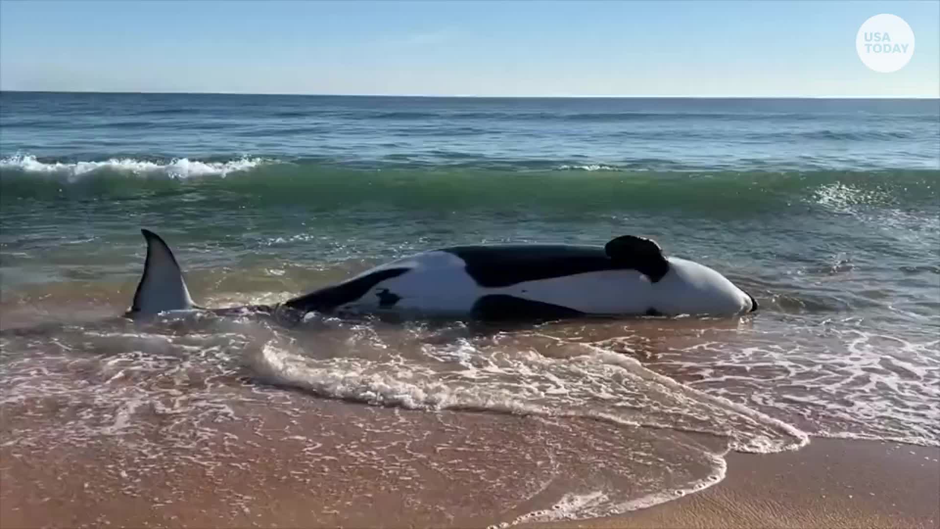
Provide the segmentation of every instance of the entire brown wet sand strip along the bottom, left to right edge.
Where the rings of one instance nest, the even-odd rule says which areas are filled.
[[[259,420],[194,439],[164,409],[134,436],[69,450],[0,443],[0,526],[485,527],[596,479],[617,464],[610,451],[654,448],[633,445],[645,428],[296,402],[290,413],[266,413],[264,399],[242,404],[239,417]],[[2,439],[24,426],[18,417],[0,422]],[[724,481],[663,505],[525,526],[930,528],[940,521],[938,458],[936,448],[817,439],[795,452],[729,454]]]

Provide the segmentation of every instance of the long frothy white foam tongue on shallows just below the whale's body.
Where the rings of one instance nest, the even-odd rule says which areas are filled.
[[[378,360],[386,344],[367,343],[371,358],[311,358],[291,345],[266,343],[245,357],[259,377],[311,393],[406,409],[478,409],[554,417],[591,417],[628,426],[652,426],[718,435],[738,451],[771,453],[808,442],[798,428],[760,411],[701,393],[657,375],[639,362],[593,345],[572,345],[579,356],[552,359],[531,349],[472,344],[426,346],[426,361],[395,353]],[[369,339],[371,342],[371,339]],[[481,348],[482,347],[482,348]]]

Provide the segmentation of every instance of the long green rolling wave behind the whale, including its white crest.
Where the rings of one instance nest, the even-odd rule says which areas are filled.
[[[444,154],[443,152],[439,152]],[[151,193],[187,193],[210,186],[265,204],[391,204],[409,209],[514,207],[537,200],[568,212],[682,208],[698,215],[766,214],[808,207],[824,214],[864,214],[869,208],[935,211],[935,169],[780,170],[665,168],[666,160],[618,163],[574,160],[462,159],[351,161],[239,157],[102,161],[0,158],[0,199],[119,200]],[[673,164],[675,166],[675,164]],[[227,178],[226,178],[227,177]],[[736,212],[736,213],[735,213]]]

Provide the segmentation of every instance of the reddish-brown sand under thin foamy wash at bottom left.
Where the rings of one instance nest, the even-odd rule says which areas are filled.
[[[712,472],[697,450],[660,442],[654,429],[577,418],[275,390],[239,399],[234,420],[176,423],[172,405],[147,404],[133,410],[133,430],[118,414],[113,429],[63,443],[76,419],[86,423],[87,409],[71,406],[49,398],[0,409],[0,527],[485,527],[569,490],[609,484],[642,496]],[[660,458],[685,464],[666,469]]]

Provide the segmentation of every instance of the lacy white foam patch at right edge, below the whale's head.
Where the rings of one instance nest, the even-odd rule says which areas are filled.
[[[791,326],[789,343],[765,332],[749,347],[707,342],[660,362],[697,390],[796,418],[813,436],[940,446],[940,341],[860,325],[824,329],[823,343],[819,327]]]

